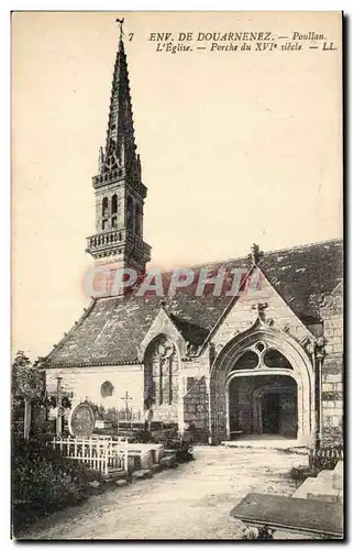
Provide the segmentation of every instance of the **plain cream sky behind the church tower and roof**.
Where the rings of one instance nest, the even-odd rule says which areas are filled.
[[[339,13],[14,13],[12,349],[32,359],[90,301],[85,248],[117,16],[125,18],[152,266],[246,255],[253,242],[267,251],[342,237]],[[292,41],[301,51],[196,50],[198,33],[248,31],[323,33],[338,50],[309,41]],[[192,32],[193,51],[156,52],[156,32],[175,44]]]

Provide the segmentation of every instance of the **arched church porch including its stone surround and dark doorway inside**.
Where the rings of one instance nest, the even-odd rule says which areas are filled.
[[[219,352],[210,374],[210,433],[214,442],[240,435],[313,441],[313,370],[295,339],[259,322]]]

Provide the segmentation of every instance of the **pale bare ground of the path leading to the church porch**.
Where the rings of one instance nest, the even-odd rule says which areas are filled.
[[[91,496],[34,524],[35,539],[240,539],[230,510],[250,492],[290,496],[307,457],[272,449],[196,447],[196,460]]]

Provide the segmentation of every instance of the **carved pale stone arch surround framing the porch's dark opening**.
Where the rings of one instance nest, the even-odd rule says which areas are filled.
[[[273,351],[273,355],[269,354]],[[248,353],[251,366],[239,363]],[[262,361],[255,362],[251,353]],[[266,353],[269,356],[266,358]],[[266,359],[266,361],[265,361]],[[289,334],[262,322],[232,339],[217,355],[210,373],[210,431],[214,441],[230,439],[230,384],[234,378],[273,376],[296,384],[297,441],[309,444],[314,437],[314,375],[311,360]],[[265,378],[263,378],[265,380]],[[261,384],[262,385],[262,384]],[[259,386],[261,386],[259,385]],[[255,388],[256,389],[256,388]],[[259,402],[258,402],[259,406]]]

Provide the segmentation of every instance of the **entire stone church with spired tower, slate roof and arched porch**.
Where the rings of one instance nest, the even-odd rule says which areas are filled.
[[[87,252],[106,274],[132,268],[143,277],[144,201],[126,56],[117,53],[110,114],[96,194],[96,233]],[[93,297],[43,360],[48,393],[56,381],[73,403],[107,409],[125,396],[142,418],[192,427],[199,441],[279,437],[313,447],[342,438],[342,241],[251,254],[193,267],[211,277],[244,273],[235,295],[201,295],[196,282],[161,296],[134,292]],[[172,274],[164,274],[164,285]],[[257,280],[256,286],[251,280]],[[229,287],[230,288],[230,287]]]

